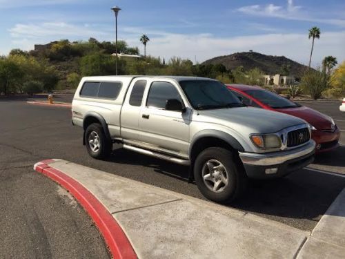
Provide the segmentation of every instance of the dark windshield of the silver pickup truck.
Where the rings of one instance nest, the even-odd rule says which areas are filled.
[[[179,84],[190,104],[197,110],[245,106],[219,81],[186,80],[179,81]]]

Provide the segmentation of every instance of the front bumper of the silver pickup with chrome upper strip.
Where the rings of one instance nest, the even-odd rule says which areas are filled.
[[[289,151],[273,153],[239,153],[249,178],[277,178],[311,164],[315,157],[315,142]]]

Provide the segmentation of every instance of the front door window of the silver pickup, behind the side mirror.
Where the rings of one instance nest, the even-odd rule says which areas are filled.
[[[182,102],[175,86],[164,81],[153,82],[148,93],[147,106],[164,109],[168,99],[178,99]]]

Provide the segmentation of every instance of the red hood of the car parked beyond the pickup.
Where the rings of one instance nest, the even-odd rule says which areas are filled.
[[[306,106],[287,109],[275,109],[275,111],[279,111],[279,113],[286,113],[304,119],[306,120],[306,122],[310,123],[319,130],[329,131],[332,129],[331,117],[319,113],[318,111],[315,111]]]

